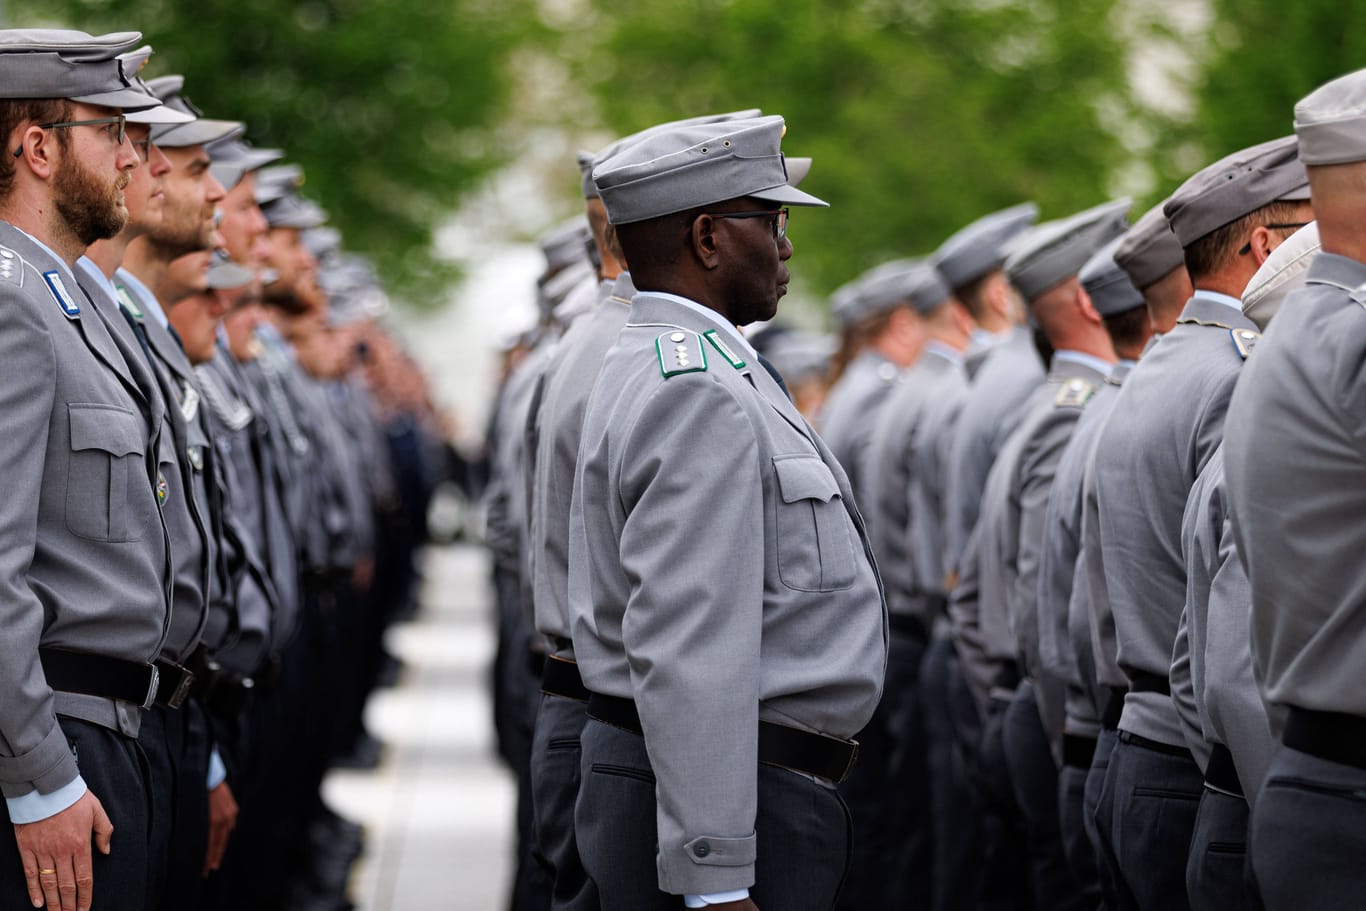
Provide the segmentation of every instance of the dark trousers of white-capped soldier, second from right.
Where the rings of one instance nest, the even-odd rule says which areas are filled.
[[[1255,911],[1261,907],[1247,877],[1247,800],[1208,784],[1195,814],[1186,893],[1191,911]]]

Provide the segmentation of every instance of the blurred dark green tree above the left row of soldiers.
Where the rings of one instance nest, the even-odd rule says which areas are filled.
[[[141,30],[206,116],[306,169],[346,246],[408,300],[438,300],[432,229],[503,164],[505,56],[533,0],[10,0],[10,25]]]

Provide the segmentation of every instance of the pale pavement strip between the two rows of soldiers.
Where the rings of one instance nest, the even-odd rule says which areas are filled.
[[[499,911],[512,869],[515,784],[493,748],[494,636],[482,548],[429,548],[422,609],[389,632],[406,669],[370,699],[374,772],[333,772],[328,803],[365,825],[359,911]]]

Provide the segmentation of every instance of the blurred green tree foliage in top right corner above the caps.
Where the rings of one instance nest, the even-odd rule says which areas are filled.
[[[1220,156],[1290,134],[1296,101],[1366,63],[1362,4],[1210,0],[1210,12],[1208,31],[1182,42],[1199,61],[1193,116],[1169,119],[1156,146],[1168,188]]]

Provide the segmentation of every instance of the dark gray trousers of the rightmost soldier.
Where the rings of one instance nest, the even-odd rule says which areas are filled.
[[[1355,908],[1366,896],[1366,769],[1281,746],[1253,806],[1268,911]]]

